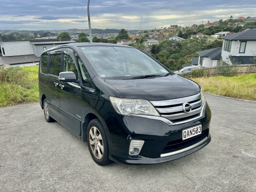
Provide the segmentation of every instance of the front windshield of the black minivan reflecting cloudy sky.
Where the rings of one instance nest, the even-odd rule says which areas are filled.
[[[130,47],[80,47],[99,77],[131,79],[132,77],[164,76],[169,71],[138,49]]]

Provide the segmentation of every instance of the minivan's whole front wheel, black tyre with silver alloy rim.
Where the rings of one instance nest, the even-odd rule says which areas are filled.
[[[87,127],[87,144],[93,160],[100,166],[111,163],[108,158],[108,139],[99,119],[93,119]]]

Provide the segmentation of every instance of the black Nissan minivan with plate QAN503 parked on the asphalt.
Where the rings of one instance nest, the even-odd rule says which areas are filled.
[[[211,140],[202,88],[140,49],[101,43],[53,47],[41,55],[38,78],[46,121],[87,141],[99,165],[162,163]]]

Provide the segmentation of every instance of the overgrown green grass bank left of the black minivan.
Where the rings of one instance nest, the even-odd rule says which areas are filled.
[[[38,102],[38,66],[0,70],[0,106]]]

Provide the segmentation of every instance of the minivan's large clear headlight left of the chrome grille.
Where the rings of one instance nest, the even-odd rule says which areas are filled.
[[[160,116],[157,110],[145,99],[124,99],[109,97],[113,108],[117,113],[122,115],[140,114]]]

